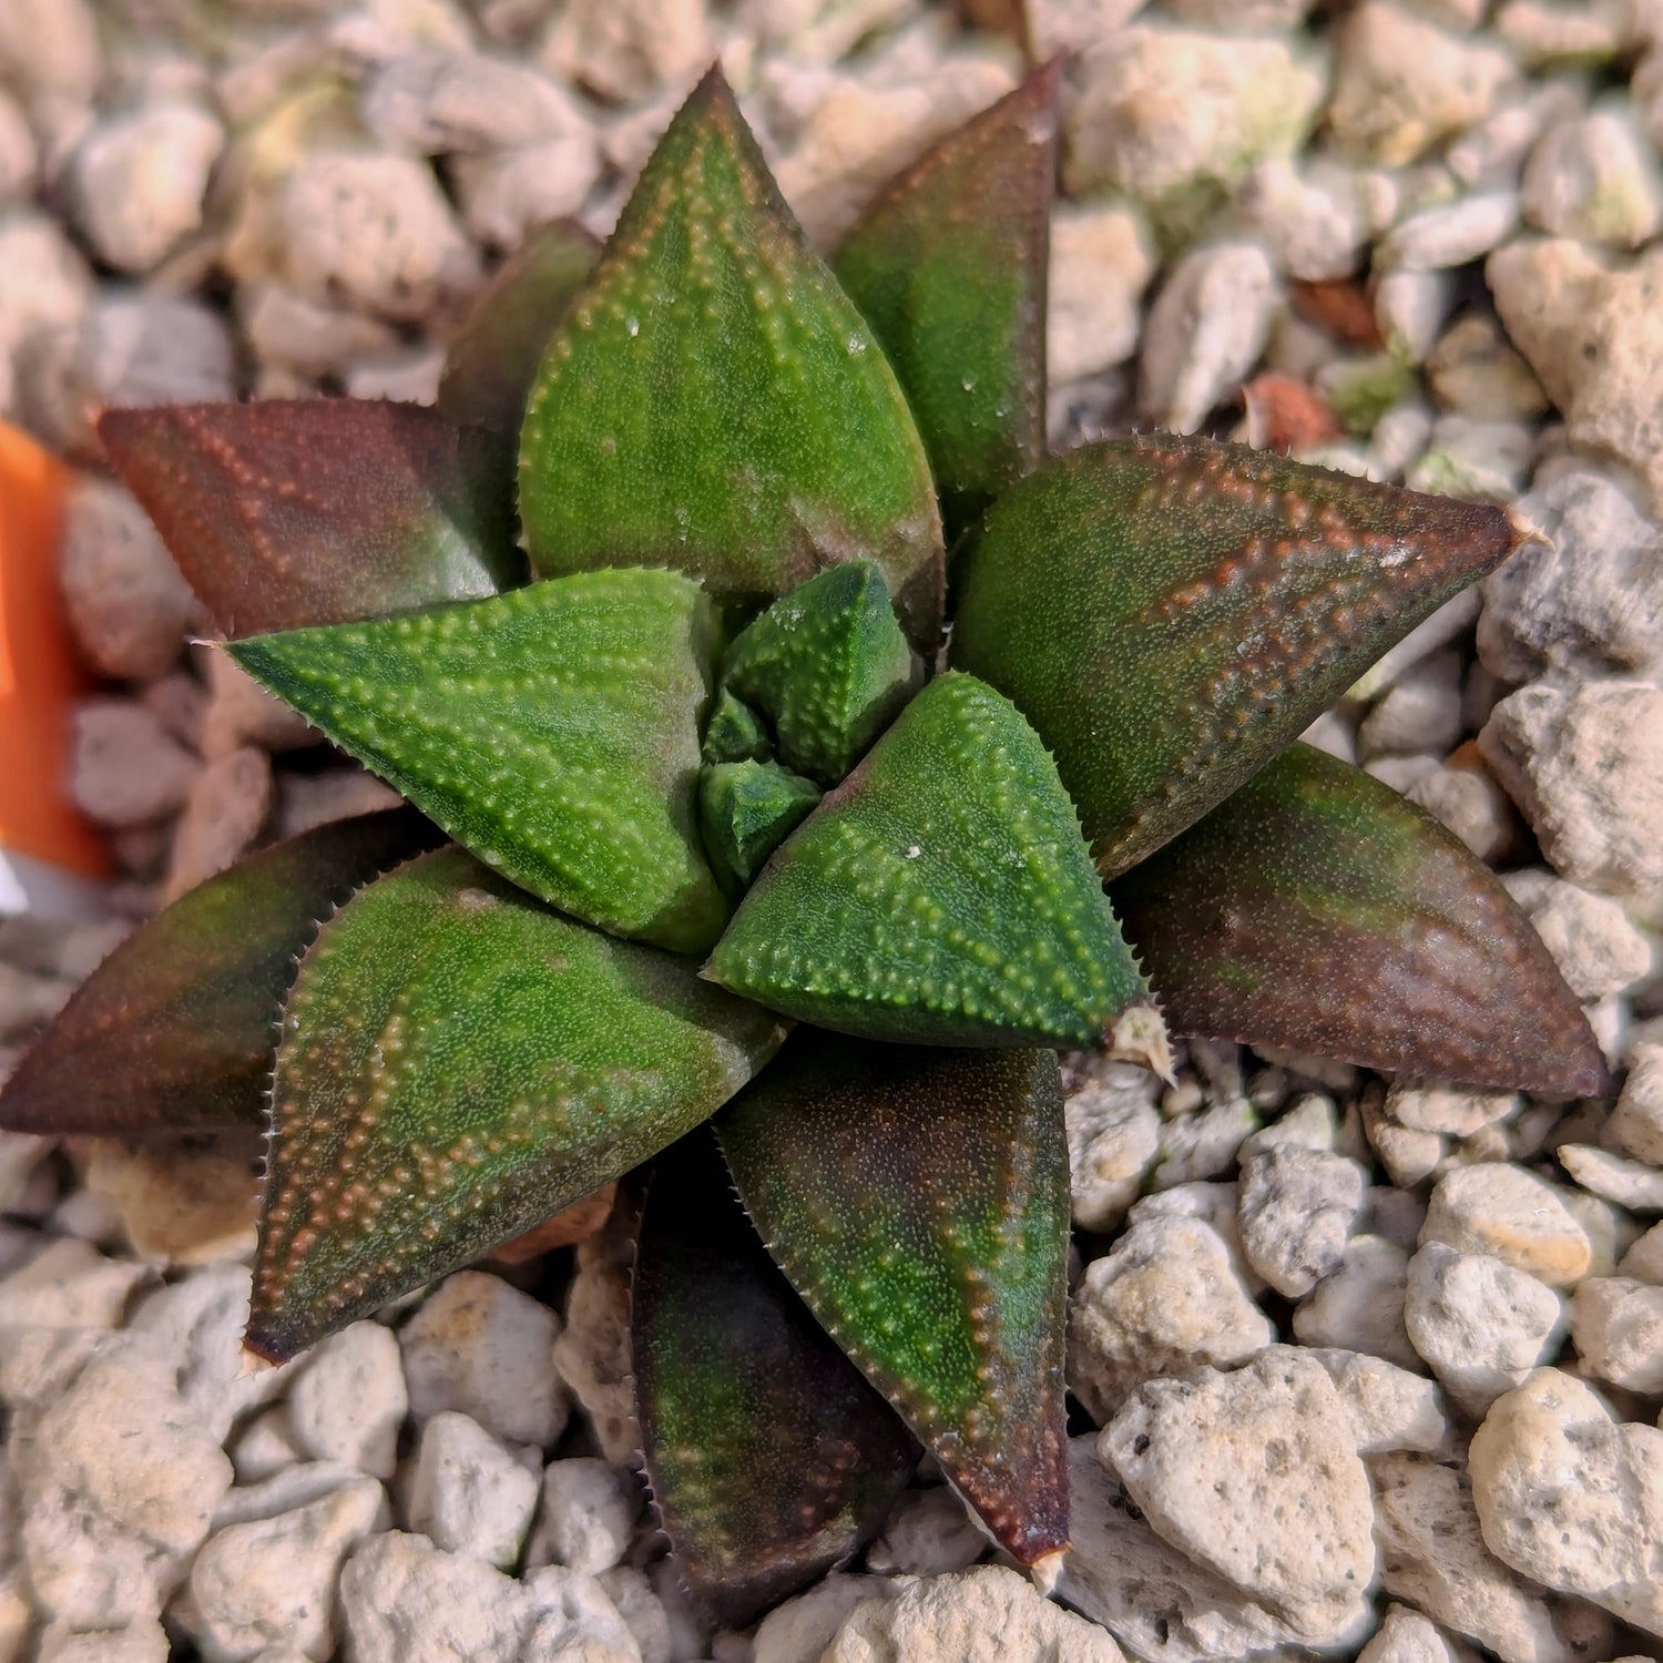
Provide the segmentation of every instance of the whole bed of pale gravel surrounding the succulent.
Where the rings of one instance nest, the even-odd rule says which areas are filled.
[[[387,800],[223,655],[101,404],[431,399],[524,231],[604,233],[720,55],[830,244],[1014,85],[920,0],[0,0],[0,414],[76,466],[106,920],[0,923],[0,1074],[131,920]],[[1059,442],[1237,434],[1552,539],[1310,732],[1505,873],[1616,1069],[1573,1106],[1189,1044],[1073,1059],[1074,1548],[921,1477],[715,1631],[634,1470],[625,1246],[244,1370],[233,1141],[0,1134],[0,1663],[1605,1663],[1663,1655],[1663,5],[1029,0],[1073,57]]]

